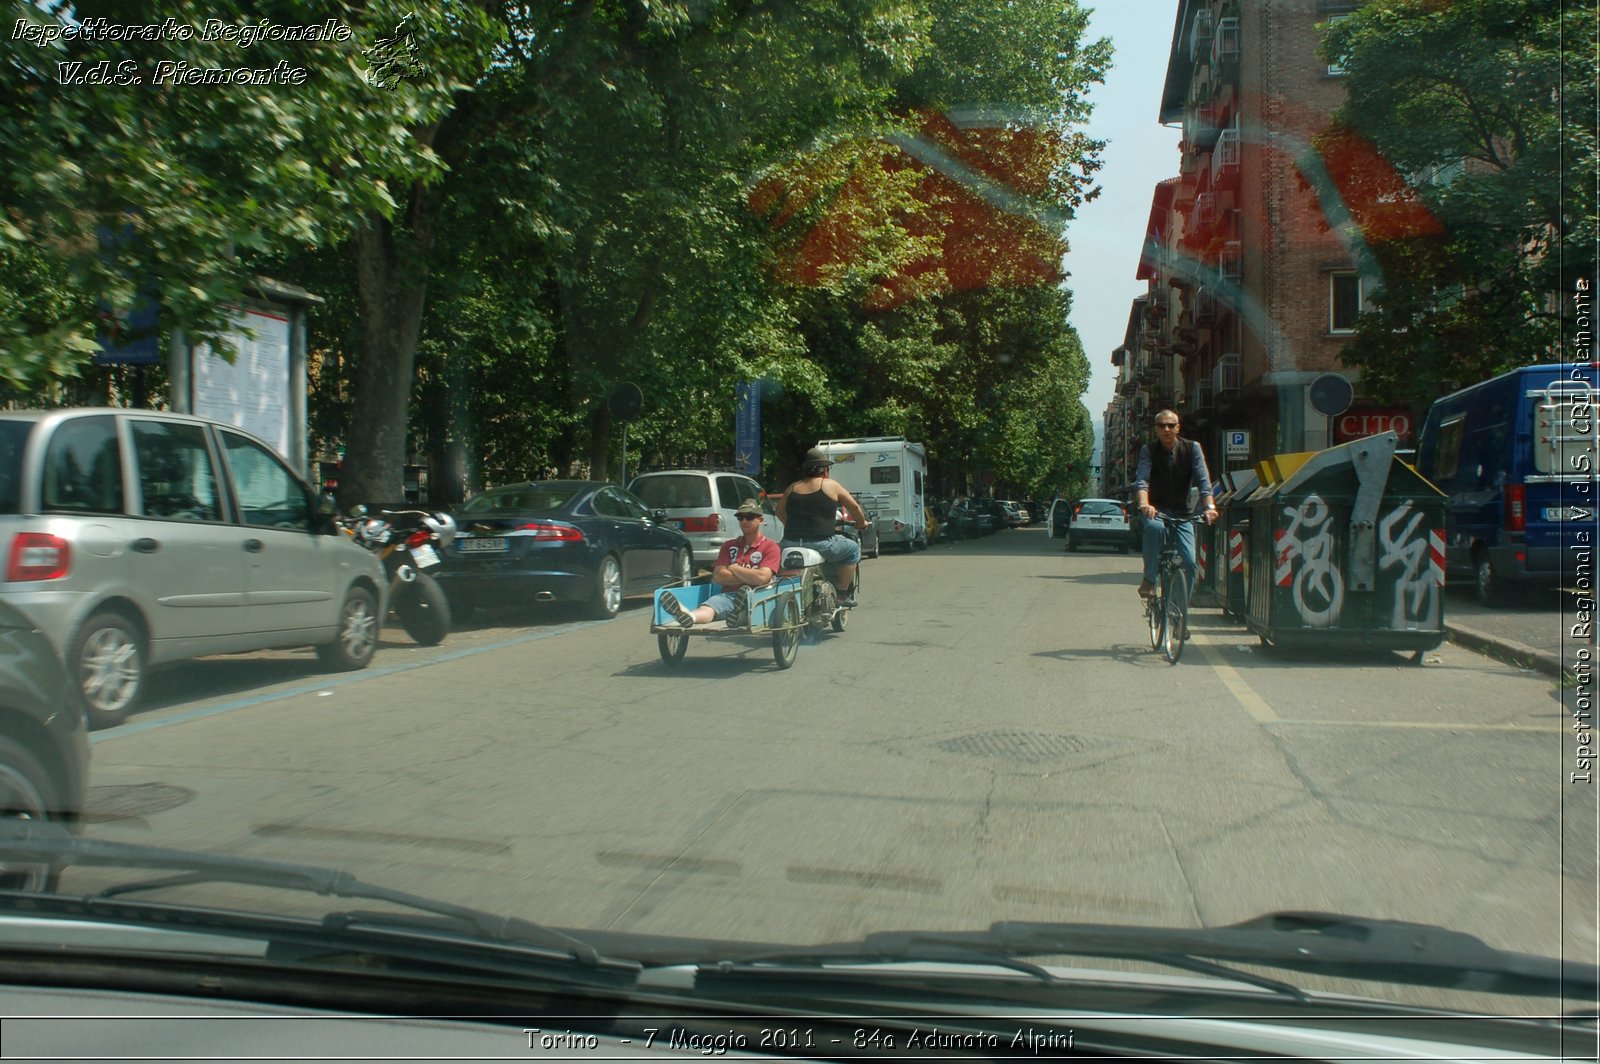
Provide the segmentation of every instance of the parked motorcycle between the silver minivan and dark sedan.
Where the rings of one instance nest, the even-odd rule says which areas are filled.
[[[389,576],[389,606],[406,635],[424,646],[450,635],[450,600],[427,570],[440,563],[440,552],[456,539],[456,518],[434,510],[379,510],[365,506],[350,510],[339,523],[344,531],[384,563]]]

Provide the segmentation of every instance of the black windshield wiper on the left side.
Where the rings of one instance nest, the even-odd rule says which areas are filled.
[[[290,891],[382,901],[405,909],[416,909],[432,918],[414,918],[384,912],[330,912],[320,917],[323,930],[331,933],[366,934],[373,939],[429,938],[435,946],[459,949],[470,946],[515,949],[528,960],[560,960],[565,965],[600,976],[605,982],[630,984],[642,966],[630,960],[603,957],[579,938],[547,928],[531,920],[507,917],[482,909],[470,909],[435,898],[366,883],[349,872],[310,864],[267,861],[261,858],[235,858],[214,853],[192,853],[163,846],[141,846],[96,838],[80,838],[59,824],[48,821],[0,819],[0,861],[40,862],[66,866],[110,866],[170,869],[178,875],[150,880],[134,880],[107,886],[96,894],[74,896],[74,902],[90,912],[101,912],[115,899],[170,886],[194,883],[245,883]],[[258,915],[258,914],[248,914]],[[440,933],[454,931],[445,939]],[[470,938],[461,936],[469,933]],[[538,957],[531,955],[533,950]]]

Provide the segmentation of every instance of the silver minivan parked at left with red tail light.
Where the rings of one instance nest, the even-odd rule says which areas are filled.
[[[382,566],[270,446],[147,410],[0,411],[0,602],[62,654],[90,726],[120,722],[154,666],[378,648]]]

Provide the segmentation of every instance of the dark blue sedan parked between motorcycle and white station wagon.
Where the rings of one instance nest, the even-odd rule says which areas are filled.
[[[434,570],[451,606],[578,602],[613,618],[624,597],[694,574],[690,539],[662,510],[597,480],[490,488],[454,517],[456,541]]]

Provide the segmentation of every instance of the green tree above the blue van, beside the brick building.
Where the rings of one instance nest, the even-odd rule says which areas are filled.
[[[1426,408],[1563,357],[1574,278],[1595,266],[1592,40],[1592,5],[1560,0],[1392,0],[1331,24],[1339,120],[1408,178],[1368,170],[1347,197],[1426,208],[1368,227],[1381,290],[1344,354],[1365,389]]]

